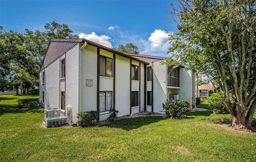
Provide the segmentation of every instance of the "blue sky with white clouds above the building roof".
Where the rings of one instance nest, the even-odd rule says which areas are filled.
[[[129,42],[140,54],[164,56],[168,43],[166,6],[172,0],[0,0],[0,26],[24,33],[44,31],[56,21],[67,24],[73,34],[107,47]],[[166,30],[165,30],[166,29]],[[173,32],[168,30],[168,32]]]

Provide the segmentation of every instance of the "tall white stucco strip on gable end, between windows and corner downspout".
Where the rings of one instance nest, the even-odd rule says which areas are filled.
[[[66,109],[66,114],[70,113],[73,118],[76,118],[78,113],[78,88],[79,88],[79,44],[76,44],[73,48],[66,52],[66,91],[65,101],[66,106],[71,106],[72,111],[69,112]],[[76,120],[72,120],[76,122]]]

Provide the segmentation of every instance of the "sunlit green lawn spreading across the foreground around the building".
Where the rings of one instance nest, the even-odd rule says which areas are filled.
[[[256,133],[215,124],[229,122],[229,114],[190,112],[184,120],[147,116],[92,128],[41,128],[43,110],[18,110],[18,98],[0,96],[3,162],[256,161]]]

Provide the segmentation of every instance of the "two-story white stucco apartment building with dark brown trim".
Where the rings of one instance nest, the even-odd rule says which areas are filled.
[[[78,112],[97,110],[106,120],[141,111],[163,112],[166,99],[194,106],[195,72],[168,68],[164,57],[125,54],[86,39],[50,40],[40,70],[40,102],[76,122]],[[69,110],[68,110],[69,108]]]

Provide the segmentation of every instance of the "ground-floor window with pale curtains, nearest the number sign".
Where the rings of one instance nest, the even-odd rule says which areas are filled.
[[[100,112],[112,109],[112,92],[100,92]]]

